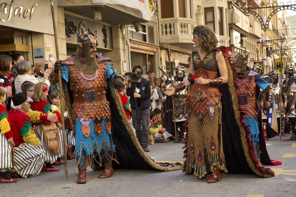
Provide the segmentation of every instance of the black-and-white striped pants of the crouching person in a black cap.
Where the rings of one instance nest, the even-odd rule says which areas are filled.
[[[44,164],[45,151],[41,146],[22,143],[14,148],[14,170],[22,178],[37,176]]]

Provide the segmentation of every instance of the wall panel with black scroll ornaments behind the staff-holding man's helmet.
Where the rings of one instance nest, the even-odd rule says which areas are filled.
[[[78,34],[82,34],[83,30],[89,29],[93,33],[97,33],[98,47],[113,49],[112,28],[100,23],[95,23],[73,16],[65,15],[66,41],[77,43]]]

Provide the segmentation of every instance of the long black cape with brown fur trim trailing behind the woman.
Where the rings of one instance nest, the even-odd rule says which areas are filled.
[[[222,140],[225,155],[226,168],[229,173],[255,173],[261,177],[272,177],[274,172],[268,168],[259,166],[255,158],[254,148],[250,143],[249,127],[243,122],[239,109],[240,102],[235,90],[233,67],[225,57],[228,70],[228,83],[220,88],[222,93]],[[259,90],[256,91],[256,97]],[[262,131],[261,113],[259,113],[259,142],[260,160],[262,164],[274,165],[267,153],[264,133]],[[281,164],[280,162],[278,164]]]

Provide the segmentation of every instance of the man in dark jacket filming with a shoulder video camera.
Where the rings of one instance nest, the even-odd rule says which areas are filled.
[[[132,69],[133,74],[129,77],[126,94],[130,96],[132,108],[133,126],[140,145],[145,152],[148,149],[148,126],[150,122],[150,96],[151,89],[147,79],[141,77],[143,67],[136,65]]]

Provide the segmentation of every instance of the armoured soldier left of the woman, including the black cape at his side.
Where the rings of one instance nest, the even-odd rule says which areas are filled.
[[[175,72],[176,76],[174,76],[173,86],[177,87],[178,85],[183,84],[185,82],[187,76],[185,75],[185,67],[180,64],[175,67]],[[173,101],[171,96],[167,96],[166,105],[164,108],[163,127],[166,128],[171,135],[175,136],[174,121],[176,121],[177,138],[174,142],[177,143],[183,142],[183,137],[186,131],[186,127],[184,126],[184,124],[187,120],[187,91],[187,88],[185,88],[174,93],[174,105],[176,116],[175,120],[173,114]]]

